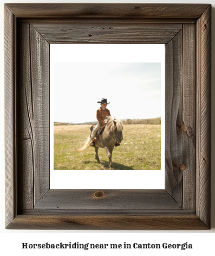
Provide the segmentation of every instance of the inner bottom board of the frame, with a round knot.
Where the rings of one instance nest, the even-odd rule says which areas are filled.
[[[102,197],[96,197],[97,190],[49,190],[35,205],[35,210],[65,210],[100,214],[121,214],[128,211],[141,214],[144,210],[178,210],[180,205],[165,190],[102,190]],[[56,211],[57,213],[57,211]]]

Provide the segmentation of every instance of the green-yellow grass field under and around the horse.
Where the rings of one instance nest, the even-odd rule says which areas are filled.
[[[89,135],[89,125],[54,126],[54,170],[109,170],[105,149],[99,148],[101,163],[95,149],[76,152]],[[160,170],[160,125],[125,124],[123,141],[112,154],[114,170]]]

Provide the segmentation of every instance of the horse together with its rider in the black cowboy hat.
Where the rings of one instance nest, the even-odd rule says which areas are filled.
[[[109,167],[112,169],[112,152],[114,146],[120,146],[120,142],[123,140],[123,124],[121,120],[110,116],[110,111],[106,108],[107,104],[110,104],[107,103],[107,99],[102,98],[97,103],[101,104],[101,107],[96,111],[97,124],[90,128],[87,141],[77,151],[82,152],[89,146],[93,146],[95,148],[95,159],[100,163],[98,149],[99,147],[105,148],[109,158]]]

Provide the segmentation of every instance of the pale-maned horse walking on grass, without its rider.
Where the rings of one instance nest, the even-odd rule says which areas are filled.
[[[100,163],[98,149],[105,148],[106,153],[109,158],[109,168],[113,170],[112,166],[112,152],[114,149],[114,145],[116,142],[121,142],[123,140],[122,135],[123,122],[116,117],[112,118],[111,116],[107,116],[105,118],[105,129],[101,134],[97,133],[97,139],[95,143],[95,159],[98,163]],[[82,152],[87,149],[92,142],[91,138],[92,131],[90,130],[87,141],[84,143],[82,148],[77,149],[78,152]]]

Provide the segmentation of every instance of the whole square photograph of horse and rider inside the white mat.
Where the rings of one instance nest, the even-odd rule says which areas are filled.
[[[54,170],[161,169],[160,63],[54,68]]]

